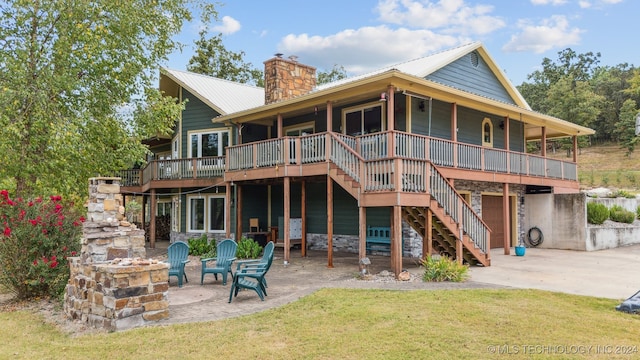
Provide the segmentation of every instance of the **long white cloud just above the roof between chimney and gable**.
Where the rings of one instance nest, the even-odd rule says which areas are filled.
[[[289,34],[278,45],[278,51],[285,56],[299,56],[303,63],[320,69],[330,70],[338,64],[350,75],[356,75],[469,41],[430,30],[381,25],[347,29],[329,36]]]

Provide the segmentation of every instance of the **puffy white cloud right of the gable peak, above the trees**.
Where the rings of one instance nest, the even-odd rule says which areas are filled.
[[[511,36],[502,48],[504,51],[533,51],[541,54],[554,48],[579,44],[580,34],[584,32],[579,28],[570,28],[569,21],[562,15],[553,15],[540,24],[520,20],[518,28],[522,31]]]

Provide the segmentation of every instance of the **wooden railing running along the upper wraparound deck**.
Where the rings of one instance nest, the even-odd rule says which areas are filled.
[[[394,141],[395,145],[392,157],[389,156],[389,141]],[[437,166],[474,171],[577,180],[577,166],[572,162],[398,131],[358,137],[332,132],[262,140],[228,147],[226,159],[155,160],[141,170],[125,170],[117,175],[122,177],[124,186],[141,186],[153,180],[222,177],[225,166],[227,171],[237,171],[284,164],[312,164],[329,161],[327,156],[331,156],[331,161],[339,166],[344,166],[343,170],[354,179],[361,176],[359,165],[356,165],[356,159],[361,158],[364,161],[362,176],[366,182],[363,185],[370,191],[399,188],[424,191],[416,185],[419,183],[416,171],[402,174],[401,187],[395,184],[400,180],[382,175],[397,170],[399,165],[387,161],[393,158],[428,161]],[[422,166],[418,164],[407,162],[402,169]]]

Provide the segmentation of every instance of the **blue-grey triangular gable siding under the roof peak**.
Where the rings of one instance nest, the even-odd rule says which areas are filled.
[[[478,65],[473,66],[471,58],[472,53],[469,53],[428,75],[426,79],[515,105],[513,98],[484,60],[478,55]]]

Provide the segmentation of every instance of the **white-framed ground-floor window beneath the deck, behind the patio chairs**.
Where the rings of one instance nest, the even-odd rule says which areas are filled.
[[[187,204],[189,232],[225,232],[224,194],[189,196]]]

